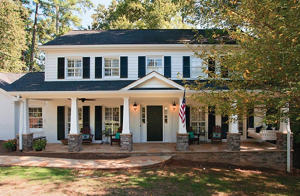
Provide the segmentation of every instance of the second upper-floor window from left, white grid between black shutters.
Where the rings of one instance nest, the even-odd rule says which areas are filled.
[[[119,57],[104,57],[104,77],[119,77]]]

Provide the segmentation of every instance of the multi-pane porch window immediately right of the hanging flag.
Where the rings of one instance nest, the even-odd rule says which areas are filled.
[[[192,131],[195,134],[200,132],[205,132],[205,108],[200,106],[191,106],[190,107],[190,123]]]

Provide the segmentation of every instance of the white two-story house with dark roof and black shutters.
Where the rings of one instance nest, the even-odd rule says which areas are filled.
[[[205,37],[204,30],[198,32]],[[175,143],[176,133],[185,131],[178,115],[184,87],[177,74],[188,80],[204,74],[202,60],[186,43],[212,46],[194,34],[191,29],[73,30],[43,44],[44,72],[0,73],[0,139],[33,133],[60,143],[89,127],[93,143],[99,143],[103,130],[115,133],[122,127],[133,143]],[[188,99],[192,93],[186,91],[186,126],[209,140],[212,126],[220,125],[225,139],[228,117],[207,112],[207,106]],[[248,120],[253,125],[261,119]],[[238,122],[241,140],[247,124]]]

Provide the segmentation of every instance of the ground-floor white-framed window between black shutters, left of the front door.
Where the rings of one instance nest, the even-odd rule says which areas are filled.
[[[108,116],[106,113],[106,109],[111,109],[111,114]],[[117,110],[118,115],[114,115],[114,110]],[[104,107],[104,129],[111,129],[111,133],[115,134],[117,128],[120,126],[120,107],[119,106],[105,106]]]

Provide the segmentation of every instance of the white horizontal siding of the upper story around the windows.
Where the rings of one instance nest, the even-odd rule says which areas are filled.
[[[46,52],[45,80],[57,80],[57,57],[68,56],[89,56],[90,57],[90,78],[84,80],[95,80],[94,78],[94,57],[96,56],[128,56],[128,80],[137,79],[137,58],[138,56],[171,56],[171,79],[177,79],[177,72],[182,73],[182,56],[193,55],[189,48],[181,49],[90,49],[90,50],[59,50]],[[122,78],[124,79],[124,78]],[[101,79],[96,79],[101,80]],[[102,79],[103,80],[103,79]],[[61,81],[61,79],[59,80]]]

